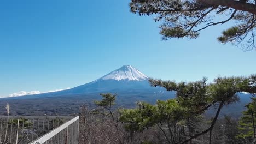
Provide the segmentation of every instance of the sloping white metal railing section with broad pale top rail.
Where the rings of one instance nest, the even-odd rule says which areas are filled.
[[[37,140],[34,140],[31,144],[78,144],[78,134],[79,117],[77,116],[49,133],[39,137]]]

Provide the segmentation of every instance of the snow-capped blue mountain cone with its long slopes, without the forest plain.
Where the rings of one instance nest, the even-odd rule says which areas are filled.
[[[75,96],[86,94],[99,93],[151,93],[163,94],[164,89],[150,87],[148,82],[149,77],[143,74],[138,69],[131,65],[124,65],[123,67],[110,72],[107,75],[100,77],[95,81],[80,85],[74,88],[65,89],[58,92],[41,93],[34,95],[26,95],[23,98],[35,97],[56,97],[56,96]],[[142,94],[143,95],[143,94]]]

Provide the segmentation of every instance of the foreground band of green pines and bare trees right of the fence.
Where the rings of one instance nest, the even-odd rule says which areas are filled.
[[[176,91],[176,98],[156,104],[138,102],[135,109],[117,109],[116,94],[101,94],[97,108],[80,107],[79,143],[254,143],[256,99],[237,120],[220,117],[224,106],[239,100],[239,92],[256,93],[256,75],[218,77],[207,84],[149,80],[154,87]],[[212,117],[204,114],[214,110]]]

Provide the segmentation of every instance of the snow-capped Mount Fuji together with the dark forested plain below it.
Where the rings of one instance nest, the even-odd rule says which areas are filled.
[[[151,87],[148,80],[149,77],[138,69],[124,65],[84,85],[58,92],[2,98],[0,105],[13,105],[14,115],[67,115],[77,113],[79,105],[92,106],[94,100],[101,99],[100,93],[117,93],[116,103],[122,107],[134,107],[137,101],[153,104],[157,99],[166,100],[174,97],[175,92]],[[21,109],[25,105],[30,109]],[[0,115],[1,110],[2,107]],[[2,111],[4,112],[4,107]]]

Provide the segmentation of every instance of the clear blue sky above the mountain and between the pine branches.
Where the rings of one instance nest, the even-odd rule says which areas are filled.
[[[225,26],[162,41],[160,23],[129,9],[128,0],[1,1],[0,97],[75,87],[122,65],[176,81],[256,73],[255,50],[217,41]]]

